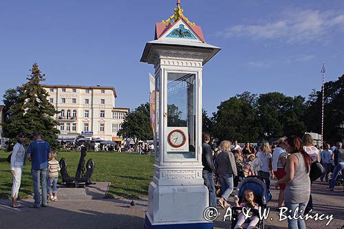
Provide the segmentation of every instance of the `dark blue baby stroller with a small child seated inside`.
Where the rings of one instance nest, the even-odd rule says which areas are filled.
[[[255,202],[261,207],[261,211],[264,212],[264,209],[266,209],[266,204],[268,204],[272,198],[270,190],[268,190],[266,184],[268,184],[268,180],[265,177],[248,176],[243,179],[237,186],[237,197],[239,198],[239,204],[243,200],[245,190],[250,189],[255,194]],[[232,210],[233,221],[231,223],[231,228],[233,229],[237,224],[237,218],[239,216],[239,212],[237,212],[237,210],[242,210],[242,208],[233,207]],[[251,209],[251,212],[252,215],[259,216],[258,210]],[[245,223],[241,227],[246,228]],[[257,227],[259,229],[264,229],[264,219],[259,220]]]

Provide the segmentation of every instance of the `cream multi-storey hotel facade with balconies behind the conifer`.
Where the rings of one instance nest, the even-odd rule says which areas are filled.
[[[42,85],[57,111],[61,140],[85,138],[121,142],[117,132],[129,108],[116,107],[116,90],[103,86]]]

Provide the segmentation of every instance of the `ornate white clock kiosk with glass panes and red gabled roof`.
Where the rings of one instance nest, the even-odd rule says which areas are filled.
[[[203,217],[202,68],[220,48],[205,43],[180,0],[174,12],[156,23],[141,58],[155,67],[155,171],[144,228],[213,228]]]

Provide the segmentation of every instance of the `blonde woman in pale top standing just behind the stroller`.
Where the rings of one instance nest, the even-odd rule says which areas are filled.
[[[270,190],[270,171],[272,170],[272,155],[270,144],[267,141],[261,143],[261,151],[258,151],[257,157],[260,161],[259,177],[266,178],[266,186]]]

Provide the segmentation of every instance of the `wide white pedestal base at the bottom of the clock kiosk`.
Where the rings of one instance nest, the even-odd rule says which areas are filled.
[[[203,217],[208,207],[208,189],[204,185],[197,186],[157,186],[149,184],[149,200],[146,221],[151,228],[163,225],[176,225],[180,228],[184,224],[195,224],[200,227],[213,228],[213,223]],[[200,224],[199,224],[200,223]],[[149,228],[146,226],[145,228]],[[179,226],[178,226],[179,225]],[[197,228],[197,227],[196,227]]]

